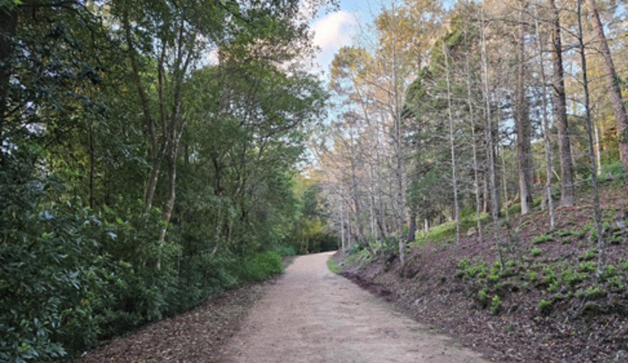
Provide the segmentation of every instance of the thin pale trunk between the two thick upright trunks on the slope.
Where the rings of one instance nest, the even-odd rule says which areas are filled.
[[[539,14],[538,14],[538,5],[534,6],[534,29],[536,30],[537,36],[537,50],[539,52],[539,66],[541,68],[541,84],[543,87],[541,88],[541,108],[543,108],[542,117],[543,117],[543,133],[544,133],[544,141],[545,141],[545,163],[546,163],[546,181],[545,181],[545,193],[547,198],[548,212],[550,216],[550,229],[554,230],[554,206],[552,203],[552,189],[551,189],[551,181],[552,181],[552,147],[550,142],[550,134],[548,127],[548,117],[547,117],[547,98],[545,96],[546,90],[546,77],[545,77],[545,65],[543,59],[543,43],[541,42],[541,31],[539,30]]]

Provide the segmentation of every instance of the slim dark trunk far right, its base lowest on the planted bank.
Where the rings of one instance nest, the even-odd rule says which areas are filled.
[[[595,3],[594,3],[595,6]],[[589,9],[591,10],[591,9]],[[599,20],[599,19],[598,19]],[[606,264],[606,241],[602,237],[604,231],[601,224],[601,211],[599,208],[599,191],[597,188],[597,174],[595,173],[595,156],[593,155],[593,137],[591,131],[591,108],[589,101],[589,82],[587,79],[587,59],[582,34],[582,0],[578,0],[578,45],[580,47],[580,60],[582,66],[582,88],[585,96],[585,116],[587,120],[587,139],[589,142],[589,162],[591,168],[591,193],[593,197],[593,209],[595,212],[595,225],[597,228],[597,277],[600,278]]]

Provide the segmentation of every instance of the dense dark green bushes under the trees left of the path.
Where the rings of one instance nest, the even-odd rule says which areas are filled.
[[[22,156],[6,159],[0,172],[1,362],[72,355],[281,272],[274,252],[219,258],[159,245],[160,212],[146,212],[141,202],[100,212],[76,201],[46,202],[47,188],[59,186],[15,163]]]

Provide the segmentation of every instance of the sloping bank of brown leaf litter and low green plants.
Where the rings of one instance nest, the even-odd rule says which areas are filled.
[[[500,228],[502,258],[489,221],[435,226],[410,244],[405,277],[394,246],[350,255],[343,276],[498,362],[628,362],[628,195],[601,191],[606,267],[597,272],[597,235],[588,191],[556,209],[556,227],[537,206],[516,208]],[[475,228],[475,227],[474,227]]]

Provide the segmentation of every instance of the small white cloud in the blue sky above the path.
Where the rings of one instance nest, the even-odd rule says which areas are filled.
[[[354,15],[345,10],[330,13],[312,24],[313,43],[321,50],[316,60],[324,70],[329,68],[336,51],[351,43],[355,24]]]

